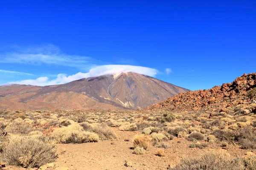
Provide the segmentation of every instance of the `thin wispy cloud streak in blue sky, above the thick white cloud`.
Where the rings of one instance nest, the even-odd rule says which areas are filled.
[[[12,46],[12,48],[1,49],[0,58],[2,63],[49,64],[80,68],[92,66],[97,62],[91,57],[64,54],[57,46],[49,44],[26,48]]]

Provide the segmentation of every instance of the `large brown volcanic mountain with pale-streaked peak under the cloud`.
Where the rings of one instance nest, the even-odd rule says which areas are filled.
[[[128,72],[45,87],[0,86],[0,109],[139,109],[186,91]]]

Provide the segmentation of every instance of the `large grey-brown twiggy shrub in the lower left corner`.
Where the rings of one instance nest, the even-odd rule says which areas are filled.
[[[2,155],[4,162],[22,167],[40,167],[53,162],[55,157],[54,145],[25,136],[11,137]]]

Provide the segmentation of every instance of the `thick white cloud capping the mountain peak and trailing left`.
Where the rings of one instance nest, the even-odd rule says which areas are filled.
[[[154,68],[134,66],[134,65],[100,65],[94,68],[91,68],[88,73],[77,73],[70,76],[66,74],[58,74],[55,79],[50,80],[48,77],[39,77],[38,79],[27,79],[17,82],[9,82],[7,84],[22,84],[22,85],[59,85],[67,82],[71,82],[77,79],[102,76],[105,74],[116,74],[120,72],[135,72],[138,74],[144,74],[151,77],[157,75],[158,71]]]

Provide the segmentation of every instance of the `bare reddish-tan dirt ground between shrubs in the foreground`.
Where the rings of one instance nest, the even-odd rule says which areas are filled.
[[[151,144],[144,155],[133,154],[132,139],[140,132],[119,131],[112,127],[117,139],[113,141],[100,141],[84,144],[57,144],[57,167],[69,167],[70,170],[166,170],[170,165],[174,167],[186,157],[200,156],[206,152],[223,152],[230,156],[245,156],[251,150],[240,149],[230,144],[228,150],[222,149],[219,144],[210,144],[204,149],[190,148],[186,139],[175,138],[167,142],[169,148],[165,149],[166,156],[156,156],[156,146]],[[125,139],[130,139],[126,142]],[[65,150],[65,152],[63,152]],[[256,150],[253,150],[256,152]],[[130,161],[132,167],[126,167],[125,161]],[[9,166],[7,170],[24,170],[23,168]]]

